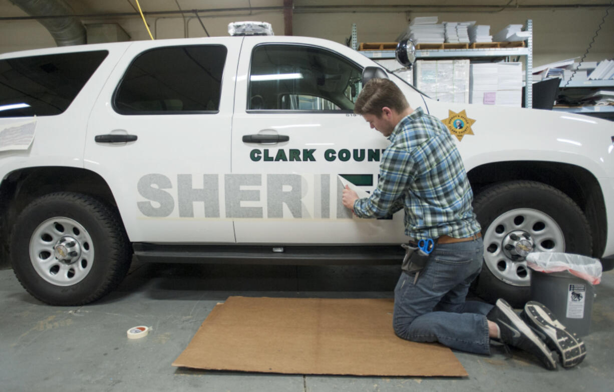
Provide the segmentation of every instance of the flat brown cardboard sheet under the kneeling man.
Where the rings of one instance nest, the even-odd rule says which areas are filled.
[[[286,374],[466,376],[451,350],[395,336],[392,299],[230,297],[173,366]]]

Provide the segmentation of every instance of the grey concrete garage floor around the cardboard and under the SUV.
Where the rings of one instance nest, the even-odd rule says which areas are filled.
[[[334,377],[192,371],[171,366],[228,296],[391,297],[398,266],[295,267],[144,264],[84,307],[41,304],[0,271],[0,391],[611,391],[614,271],[596,286],[588,356],[546,371],[530,356],[455,352],[464,378]],[[131,326],[153,326],[126,339]]]

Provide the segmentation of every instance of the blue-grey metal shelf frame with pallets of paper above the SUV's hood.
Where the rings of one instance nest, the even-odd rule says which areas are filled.
[[[525,60],[524,71],[525,80],[532,80],[533,69],[533,21],[527,20],[524,25],[525,31],[531,34],[527,38],[527,46],[524,48],[478,48],[478,49],[429,49],[416,50],[416,57],[419,59],[429,58],[506,58],[510,61],[513,57],[523,57]],[[356,24],[352,25],[352,48],[358,50],[358,39],[356,37]],[[394,50],[363,50],[360,53],[368,58],[384,59],[394,58]],[[524,89],[524,102],[526,107],[532,107],[533,88],[527,84]]]

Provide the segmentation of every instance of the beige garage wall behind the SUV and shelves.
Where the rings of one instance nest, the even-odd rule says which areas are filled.
[[[352,23],[356,23],[359,42],[393,42],[406,28],[408,17],[437,15],[440,21],[476,20],[478,24],[491,25],[491,34],[497,33],[509,24],[521,24],[530,18],[534,22],[534,64],[537,66],[583,55],[604,12],[605,9],[506,10],[495,13],[295,13],[293,34],[321,37],[343,43],[351,35]],[[203,15],[201,18],[212,36],[227,36],[228,23],[238,20],[268,21],[273,25],[277,35],[284,33],[284,18],[281,12],[258,15]],[[184,37],[184,23],[187,23],[188,37],[206,36],[195,17],[187,17],[185,20],[180,16],[148,17],[147,21],[157,39]],[[84,23],[105,22],[109,23],[109,20],[84,21]],[[130,34],[131,39],[149,39],[140,18],[123,18],[119,23]],[[599,61],[612,58],[613,36],[614,12],[606,18],[586,60]],[[49,32],[36,21],[0,22],[0,53],[53,46],[55,42]]]

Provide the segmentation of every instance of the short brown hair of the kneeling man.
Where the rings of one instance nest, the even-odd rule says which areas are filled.
[[[405,95],[389,79],[371,79],[363,86],[362,91],[354,104],[354,113],[364,115],[373,114],[378,118],[382,115],[382,108],[389,107],[397,113],[410,107]]]

